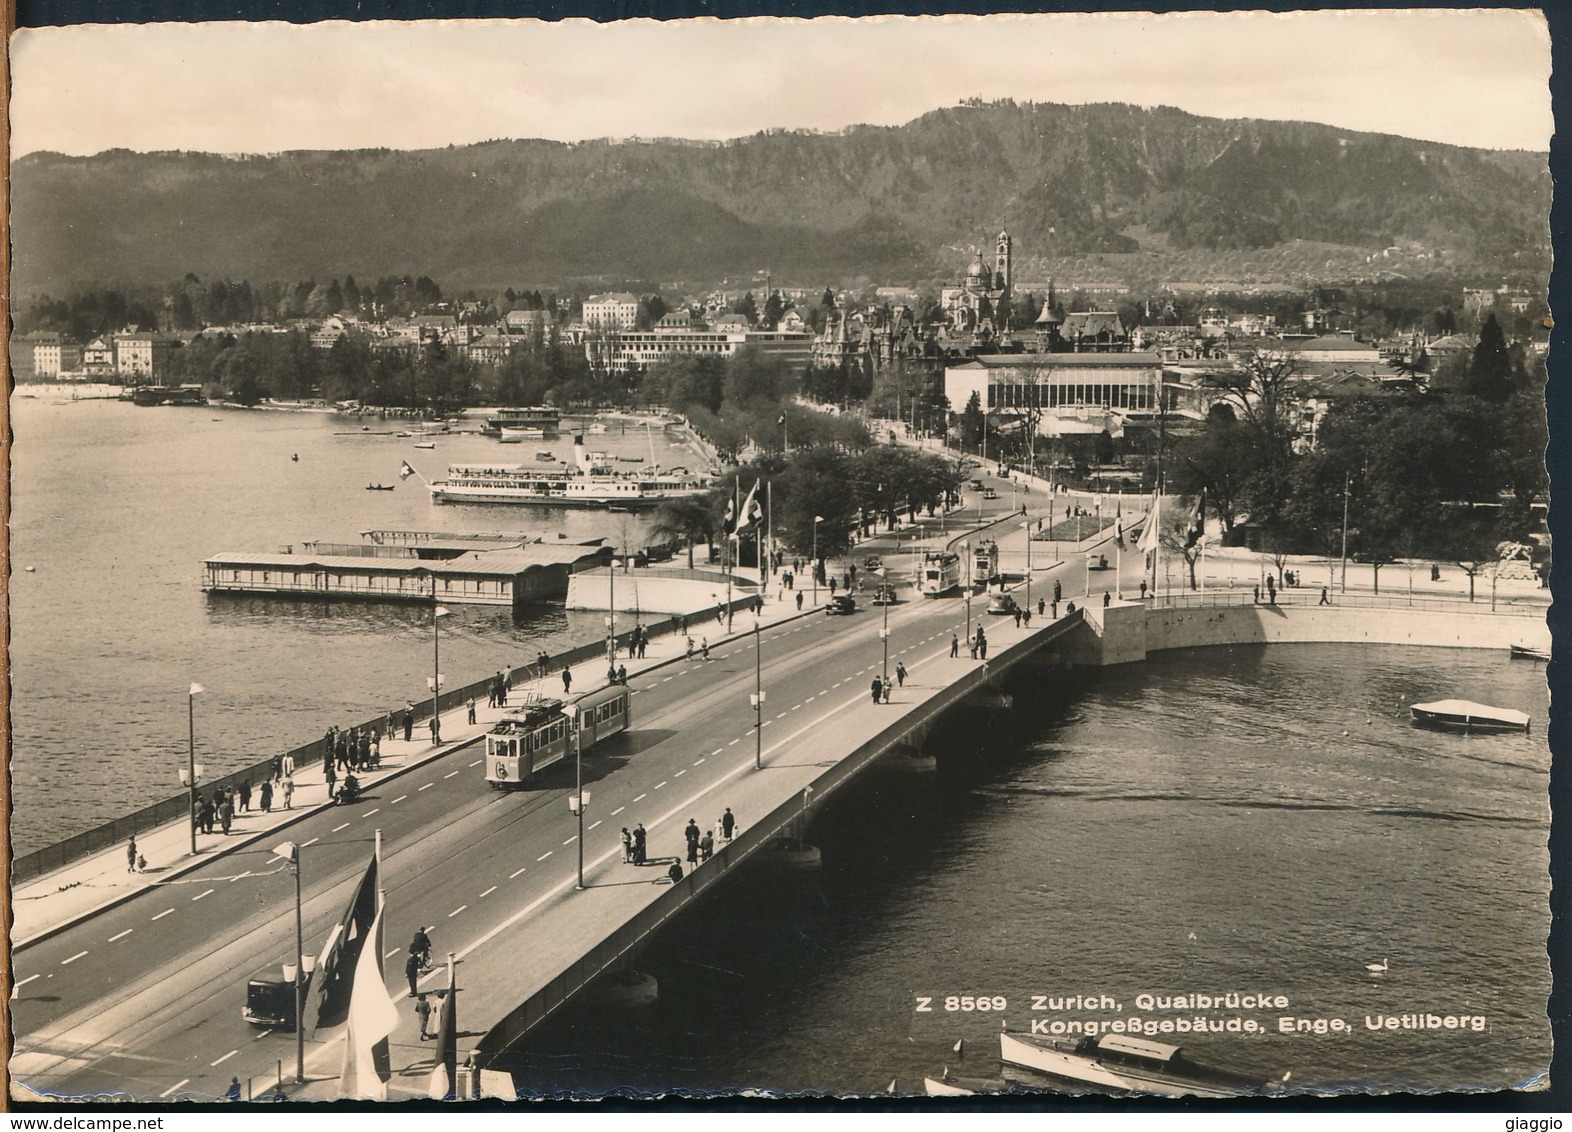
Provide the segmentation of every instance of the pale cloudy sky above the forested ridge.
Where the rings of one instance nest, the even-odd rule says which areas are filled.
[[[13,156],[423,149],[896,126],[960,99],[1133,102],[1550,146],[1528,11],[25,28]]]

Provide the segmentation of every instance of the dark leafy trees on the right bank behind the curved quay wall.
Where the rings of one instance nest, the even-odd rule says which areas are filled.
[[[1247,524],[1280,557],[1339,553],[1347,513],[1353,555],[1470,568],[1541,528],[1545,373],[1493,318],[1456,384],[1339,399],[1308,448],[1295,443],[1298,382],[1292,355],[1258,355],[1173,447],[1170,486],[1204,492],[1225,539]]]

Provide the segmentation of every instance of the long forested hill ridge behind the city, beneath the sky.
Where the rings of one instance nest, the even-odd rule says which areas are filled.
[[[409,272],[448,289],[759,269],[898,281],[953,272],[957,248],[1000,226],[1023,266],[1292,239],[1421,245],[1453,272],[1548,263],[1542,154],[1130,105],[964,105],[723,145],[39,153],[11,175],[24,297],[185,272]]]

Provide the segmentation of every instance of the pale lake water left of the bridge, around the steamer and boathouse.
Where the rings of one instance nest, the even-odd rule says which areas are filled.
[[[475,421],[473,424],[478,424]],[[118,401],[13,401],[11,766],[19,854],[179,792],[185,690],[196,752],[214,772],[429,695],[431,613],[404,605],[206,596],[201,561],[275,552],[305,539],[358,542],[369,528],[527,531],[643,546],[646,517],[591,511],[434,506],[428,480],[450,462],[571,458],[572,437],[498,445],[439,436],[432,451],[393,436],[402,423],[329,413],[140,409]],[[649,456],[641,429],[586,437]],[[657,461],[696,456],[654,434]],[[291,456],[300,459],[292,461]],[[28,569],[31,568],[31,569]],[[604,632],[561,605],[451,607],[442,621],[450,685],[541,649]]]

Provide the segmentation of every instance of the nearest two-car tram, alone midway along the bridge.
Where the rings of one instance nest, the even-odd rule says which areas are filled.
[[[486,733],[486,781],[495,789],[530,786],[534,775],[567,758],[574,742],[590,750],[632,719],[627,685],[613,684],[574,700],[528,700]]]

